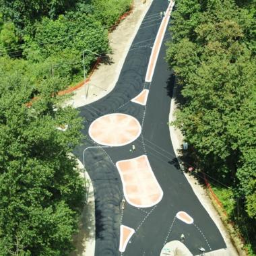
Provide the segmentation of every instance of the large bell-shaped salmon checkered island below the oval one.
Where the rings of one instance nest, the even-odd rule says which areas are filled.
[[[163,192],[146,155],[117,162],[127,202],[135,207],[152,207]]]

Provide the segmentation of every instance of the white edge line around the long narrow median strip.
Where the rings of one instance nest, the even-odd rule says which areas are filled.
[[[162,46],[162,40],[164,39],[164,35],[165,35],[165,32],[166,32],[166,28],[168,26],[168,22],[170,20],[170,13],[172,11],[172,8],[174,6],[174,1],[171,1],[170,4],[168,5],[167,9],[166,9],[166,15],[164,16],[162,22],[161,22],[161,25],[158,29],[158,34],[156,35],[156,39],[155,39],[155,42],[154,42],[154,46],[152,48],[152,52],[151,52],[151,55],[150,55],[150,61],[148,62],[148,69],[147,69],[147,73],[146,73],[146,78],[145,78],[145,82],[151,82],[152,81],[152,77],[154,75],[154,70],[155,70],[155,67],[156,67],[156,62],[158,60],[158,55],[159,55],[159,52],[160,52],[160,49],[161,49],[161,46]],[[168,9],[170,9],[170,11],[168,12]],[[152,68],[152,73],[150,75],[150,77],[148,77],[148,73],[150,72],[150,64],[152,63],[152,58],[153,58],[153,55],[154,55],[154,51],[156,49],[156,42],[158,40],[158,36],[160,34],[160,31],[162,30],[162,26],[164,26],[163,24],[166,22],[165,24],[165,28],[164,28],[164,32],[162,33],[162,36],[161,36],[161,41],[160,41],[160,44],[158,46],[158,49],[157,49],[157,57],[156,59],[154,60],[154,64],[153,64],[153,68]]]

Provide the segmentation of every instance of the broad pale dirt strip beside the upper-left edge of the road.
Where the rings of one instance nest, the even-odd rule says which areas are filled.
[[[132,13],[108,36],[110,49],[112,49],[112,53],[108,55],[109,63],[100,63],[95,69],[90,82],[88,82],[88,98],[86,98],[86,87],[82,86],[75,90],[74,95],[67,104],[71,104],[75,108],[84,106],[99,100],[113,90],[131,43],[152,1],[133,1]]]

